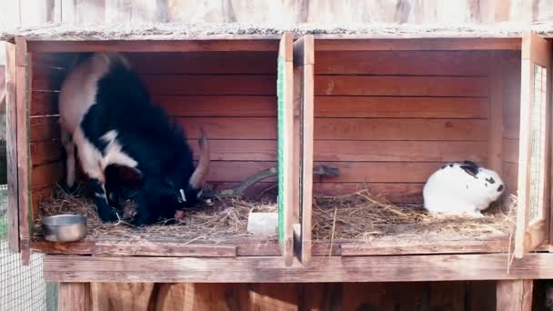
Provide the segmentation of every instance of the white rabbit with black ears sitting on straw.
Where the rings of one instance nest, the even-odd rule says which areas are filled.
[[[423,196],[430,213],[481,217],[481,211],[504,190],[498,173],[465,161],[448,164],[434,172],[428,177]]]

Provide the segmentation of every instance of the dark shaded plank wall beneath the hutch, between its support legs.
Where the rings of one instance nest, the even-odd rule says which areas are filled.
[[[92,310],[494,310],[495,282],[92,285]]]

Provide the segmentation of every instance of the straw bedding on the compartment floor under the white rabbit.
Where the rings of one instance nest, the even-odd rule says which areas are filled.
[[[478,237],[506,235],[514,230],[516,198],[508,206],[490,207],[484,217],[436,216],[422,205],[397,206],[363,190],[345,196],[316,196],[313,206],[313,238],[316,240],[374,241],[389,236]]]

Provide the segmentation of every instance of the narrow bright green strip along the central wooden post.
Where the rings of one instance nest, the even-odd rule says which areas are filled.
[[[284,58],[278,57],[277,66],[277,169],[278,169],[278,239],[284,246]]]

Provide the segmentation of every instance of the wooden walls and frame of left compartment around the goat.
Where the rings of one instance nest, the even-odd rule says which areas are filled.
[[[205,129],[212,161],[208,185],[225,190],[259,171],[281,167],[280,232],[272,237],[241,233],[217,240],[136,231],[126,236],[111,229],[90,237],[89,229],[89,236],[81,242],[45,241],[37,233],[41,226],[37,219],[44,212],[43,204],[55,196],[65,178],[57,94],[75,53],[80,52],[124,53],[145,81],[154,102],[183,125],[193,149],[197,148],[200,127]],[[292,145],[287,143],[291,142],[292,134],[291,83],[289,34],[281,39],[236,37],[173,42],[55,42],[16,38],[15,45],[8,46],[10,194],[18,200],[18,204],[12,201],[11,206],[12,248],[23,252],[25,258],[32,249],[45,254],[111,256],[286,256],[289,263],[292,194],[291,184],[282,185],[282,181],[291,179],[292,171],[291,166],[284,165],[292,155]],[[277,129],[281,135],[278,139]],[[276,183],[277,178],[273,177],[248,190],[256,196]],[[71,212],[64,210],[63,204],[56,208],[62,213]],[[186,232],[186,226],[181,229]]]

